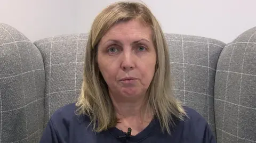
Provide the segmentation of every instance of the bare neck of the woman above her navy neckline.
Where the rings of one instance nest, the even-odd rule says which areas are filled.
[[[145,116],[141,114],[145,96],[124,98],[121,95],[112,94],[111,92],[109,92],[109,96],[118,119],[116,125],[118,129],[126,132],[127,128],[132,128],[132,134],[135,135],[145,129],[153,119],[153,114],[150,111],[147,111],[144,114]]]

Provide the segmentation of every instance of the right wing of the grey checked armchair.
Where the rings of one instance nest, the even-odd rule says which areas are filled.
[[[256,27],[227,44],[215,82],[218,142],[256,142]]]

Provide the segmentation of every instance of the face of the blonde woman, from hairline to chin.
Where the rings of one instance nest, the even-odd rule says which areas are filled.
[[[143,96],[154,77],[152,30],[139,20],[120,22],[102,37],[97,61],[112,96]]]

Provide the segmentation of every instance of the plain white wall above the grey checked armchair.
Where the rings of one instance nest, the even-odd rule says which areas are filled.
[[[32,41],[88,32],[94,17],[117,0],[1,0],[0,22]],[[229,43],[256,26],[255,0],[143,0],[164,32],[197,35]]]

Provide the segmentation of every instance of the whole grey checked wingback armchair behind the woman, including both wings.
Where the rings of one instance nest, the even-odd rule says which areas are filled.
[[[218,142],[256,142],[256,28],[233,43],[165,35],[174,95]],[[0,142],[38,142],[50,116],[81,91],[85,33],[29,41],[0,24]],[[8,127],[8,128],[7,128]]]

